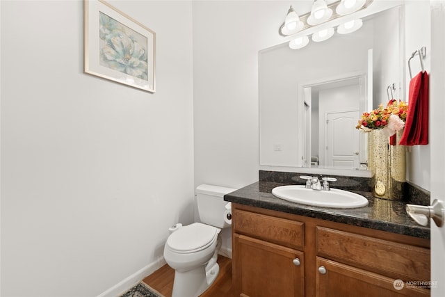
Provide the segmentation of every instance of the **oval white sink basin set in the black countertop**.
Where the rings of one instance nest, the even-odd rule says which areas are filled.
[[[331,191],[317,191],[305,186],[277,186],[272,194],[290,202],[316,207],[356,208],[366,207],[368,200],[362,195],[331,188]]]

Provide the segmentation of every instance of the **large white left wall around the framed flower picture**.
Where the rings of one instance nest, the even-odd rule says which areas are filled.
[[[1,1],[1,296],[98,296],[193,220],[191,2],[110,3],[156,94],[83,74],[83,1]]]

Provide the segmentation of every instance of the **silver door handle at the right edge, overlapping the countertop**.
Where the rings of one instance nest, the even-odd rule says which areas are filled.
[[[423,207],[416,204],[406,204],[406,212],[419,225],[428,225],[429,218],[434,220],[437,227],[442,227],[444,225],[444,202],[440,200],[435,199],[430,207]]]

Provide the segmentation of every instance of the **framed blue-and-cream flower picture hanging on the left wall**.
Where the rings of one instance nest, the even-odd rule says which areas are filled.
[[[84,71],[155,93],[156,33],[103,0],[85,0]]]

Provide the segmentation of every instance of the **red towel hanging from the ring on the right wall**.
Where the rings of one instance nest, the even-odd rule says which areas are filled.
[[[428,145],[428,81],[426,71],[419,72],[410,81],[410,107],[399,143],[401,145]]]

